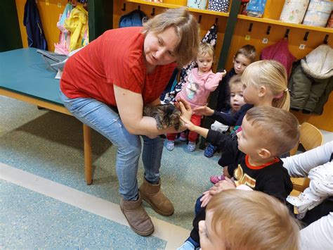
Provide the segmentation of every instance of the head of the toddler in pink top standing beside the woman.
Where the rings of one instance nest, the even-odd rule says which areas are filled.
[[[214,47],[211,44],[201,43],[197,53],[197,67],[199,73],[205,73],[211,70],[214,62]]]

